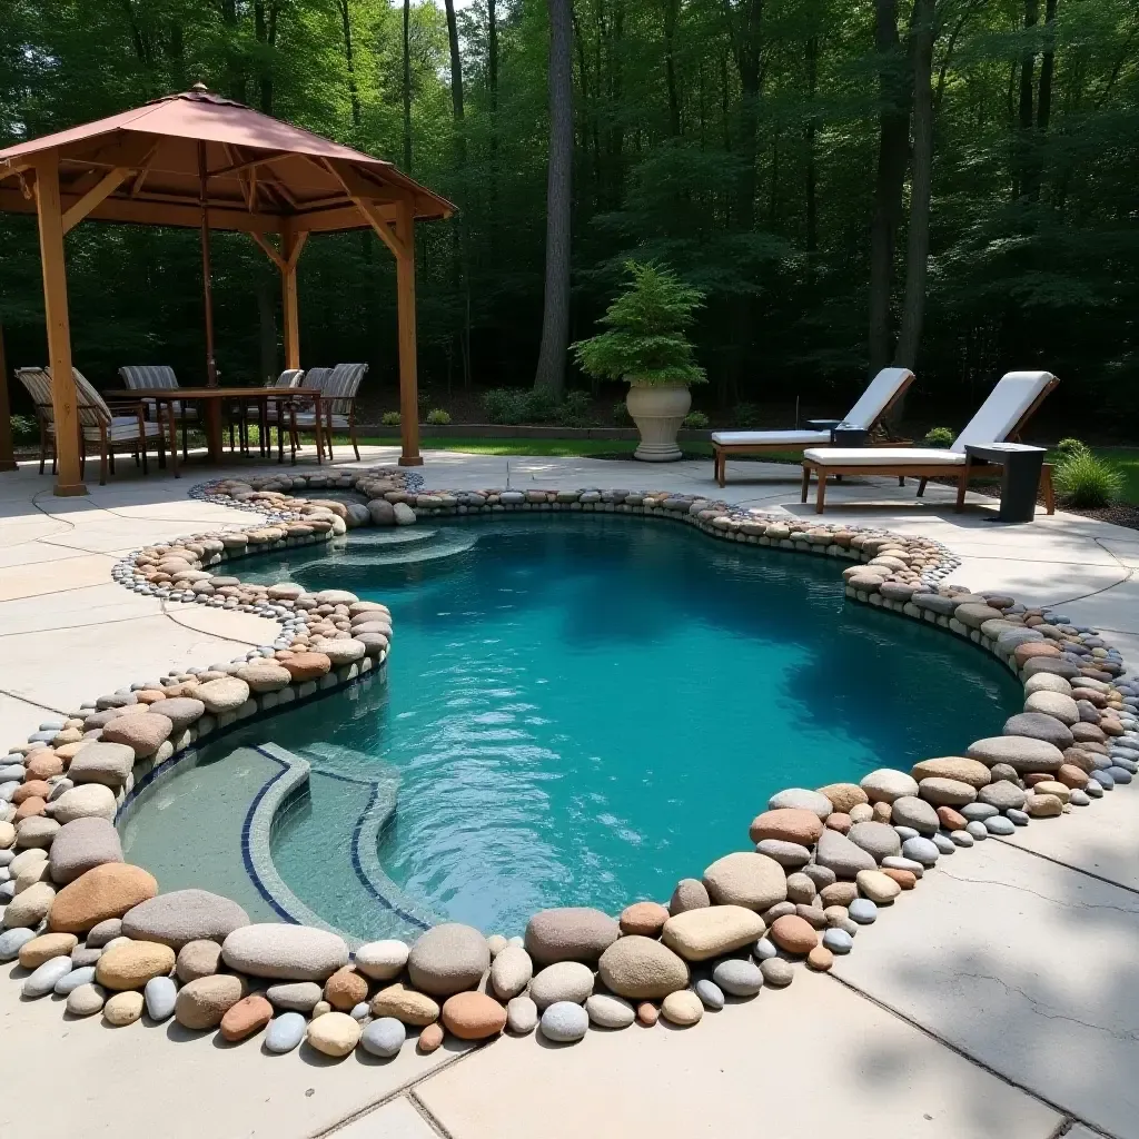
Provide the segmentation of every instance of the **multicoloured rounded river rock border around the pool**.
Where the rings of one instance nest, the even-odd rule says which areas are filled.
[[[66,994],[69,1013],[101,1011],[110,1025],[133,1023],[144,1010],[155,1022],[173,1016],[230,1041],[264,1029],[267,1052],[305,1040],[336,1057],[358,1044],[394,1056],[409,1029],[419,1049],[432,1051],[444,1029],[477,1041],[536,1027],[551,1041],[574,1042],[591,1024],[620,1029],[663,1015],[691,1025],[705,1008],[789,984],[794,962],[830,968],[859,927],[903,899],[939,859],[1087,806],[1137,771],[1139,681],[1123,679],[1120,654],[1063,614],[948,584],[959,562],[937,542],[695,495],[420,492],[417,477],[378,468],[206,484],[195,497],[261,518],[146,547],[116,564],[114,577],[129,589],[271,617],[279,634],[232,662],[139,681],[46,721],[0,764],[0,961],[18,959],[13,976],[25,999]],[[361,501],[296,493],[316,490],[352,491]],[[859,784],[779,792],[753,821],[749,847],[682,879],[667,904],[633,902],[617,918],[544,910],[525,937],[445,923],[410,948],[383,941],[353,954],[316,916],[306,925],[251,924],[206,891],[158,894],[145,869],[122,861],[113,820],[199,740],[386,664],[385,606],[339,590],[246,584],[216,572],[222,562],[328,541],[355,526],[510,511],[666,518],[720,540],[850,562],[849,599],[993,654],[1023,682],[1024,711],[1003,735],[974,741],[961,756],[924,760],[910,772],[879,769]],[[263,853],[296,772],[287,781],[251,812]]]

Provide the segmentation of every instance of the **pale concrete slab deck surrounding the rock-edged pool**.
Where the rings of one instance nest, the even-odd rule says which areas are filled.
[[[394,458],[368,448],[361,465]],[[247,524],[244,511],[187,498],[196,482],[243,469],[120,477],[85,499],[52,498],[31,465],[0,476],[9,741],[151,662],[156,673],[208,665],[271,639],[263,618],[109,580],[115,557],[140,544]],[[427,487],[659,487],[814,517],[813,503],[798,502],[798,468],[770,464],[730,464],[724,490],[710,459],[649,467],[428,452],[423,473]],[[947,487],[929,486],[921,502],[912,482],[870,482],[833,485],[825,518],[942,541],[962,558],[952,581],[1059,608],[1139,664],[1139,533],[1064,514],[999,526],[991,500],[970,495],[954,515]],[[0,1039],[18,1042],[19,1071],[56,1073],[50,1096],[11,1085],[0,1134],[798,1139],[826,1122],[850,1139],[1139,1139],[1139,795],[1121,788],[943,859],[894,908],[829,975],[797,970],[789,990],[691,1031],[592,1031],[572,1048],[533,1036],[469,1050],[449,1041],[427,1057],[405,1046],[390,1062],[302,1051],[297,1066],[255,1042],[156,1039],[177,1025],[66,1021],[44,1007],[52,998],[25,1002],[0,983]]]

